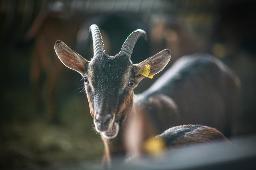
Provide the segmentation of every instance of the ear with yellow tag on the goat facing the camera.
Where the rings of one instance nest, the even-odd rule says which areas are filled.
[[[165,49],[163,51],[160,51],[156,55],[149,57],[143,62],[140,62],[139,64],[134,64],[136,81],[140,82],[145,77],[153,78],[153,75],[159,73],[164,69],[170,59],[171,51],[169,49]]]

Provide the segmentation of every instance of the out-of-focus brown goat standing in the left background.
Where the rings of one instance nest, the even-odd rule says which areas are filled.
[[[65,40],[70,46],[75,46],[79,24],[73,17],[68,13],[40,13],[25,36],[26,41],[34,40],[30,81],[36,107],[39,111],[45,112],[50,122],[59,122],[55,95],[64,68],[50,47],[57,38]]]

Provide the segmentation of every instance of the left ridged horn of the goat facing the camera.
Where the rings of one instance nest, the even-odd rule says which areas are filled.
[[[92,32],[93,55],[95,56],[99,51],[105,53],[104,44],[102,41],[99,27],[96,24],[92,24],[89,28],[89,32]]]

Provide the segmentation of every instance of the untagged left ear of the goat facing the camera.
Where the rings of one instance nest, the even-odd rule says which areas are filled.
[[[84,68],[89,63],[76,51],[69,48],[64,42],[57,40],[54,45],[56,54],[60,61],[68,68],[77,71],[82,76],[84,75]]]

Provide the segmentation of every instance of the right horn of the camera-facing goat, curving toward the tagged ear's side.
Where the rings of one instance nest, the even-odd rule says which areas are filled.
[[[121,51],[119,52],[119,55],[125,54],[131,57],[132,50],[141,36],[144,38],[144,40],[148,40],[147,33],[144,30],[137,29],[133,31],[125,40],[124,45],[122,46]]]

